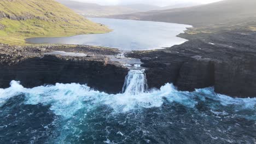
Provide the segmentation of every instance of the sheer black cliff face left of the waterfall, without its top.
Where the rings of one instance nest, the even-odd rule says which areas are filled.
[[[11,80],[20,81],[27,88],[80,83],[107,93],[119,93],[128,70],[98,61],[44,56],[28,58],[14,65],[0,65],[0,87],[7,88]]]

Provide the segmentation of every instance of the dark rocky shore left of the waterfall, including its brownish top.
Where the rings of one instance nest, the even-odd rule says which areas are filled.
[[[82,52],[86,57],[44,55],[52,51]],[[87,83],[107,93],[119,93],[128,69],[109,61],[117,49],[93,46],[9,46],[0,45],[0,87],[11,80],[27,88],[55,83]]]

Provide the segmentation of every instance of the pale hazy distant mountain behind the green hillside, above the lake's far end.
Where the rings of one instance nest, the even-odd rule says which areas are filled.
[[[115,5],[98,5],[93,3],[84,3],[77,1],[69,1],[69,0],[56,0],[60,2],[66,7],[73,9],[76,13],[83,14],[88,17],[95,16],[106,16],[106,15],[117,15],[117,14],[130,14],[137,13],[139,10],[131,9],[128,7],[115,6]]]

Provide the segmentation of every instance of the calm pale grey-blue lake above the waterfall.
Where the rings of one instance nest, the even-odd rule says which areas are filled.
[[[107,25],[110,33],[75,35],[62,38],[31,38],[33,44],[78,44],[115,47],[121,50],[152,50],[182,44],[186,39],[176,35],[183,33],[189,25],[176,23],[89,18]]]

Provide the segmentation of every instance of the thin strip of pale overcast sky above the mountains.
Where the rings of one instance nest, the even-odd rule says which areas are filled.
[[[117,5],[117,4],[152,4],[159,6],[173,5],[177,3],[212,3],[221,0],[73,0],[80,2],[97,3],[101,5]]]

